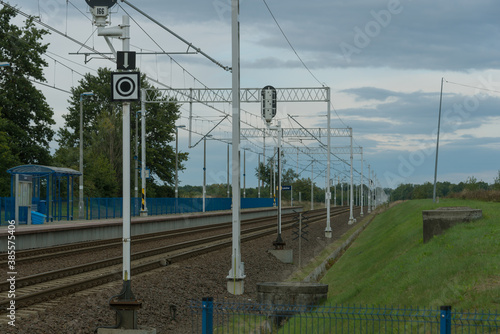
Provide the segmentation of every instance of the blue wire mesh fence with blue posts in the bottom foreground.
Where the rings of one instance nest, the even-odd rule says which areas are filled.
[[[192,333],[499,333],[500,313],[191,301]]]

